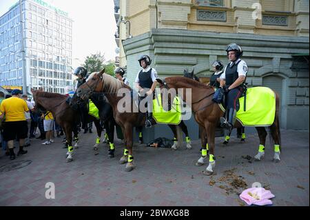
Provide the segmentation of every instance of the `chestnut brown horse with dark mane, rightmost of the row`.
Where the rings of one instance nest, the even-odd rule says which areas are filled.
[[[214,101],[211,101],[214,89],[210,86],[206,86],[203,83],[198,81],[194,81],[192,79],[188,79],[186,77],[167,77],[164,80],[157,79],[158,83],[160,83],[161,88],[178,90],[179,88],[190,88],[192,89],[191,97],[186,97],[185,90],[183,90],[183,94],[178,94],[183,98],[183,101],[186,102],[187,99],[192,98],[192,112],[194,113],[195,120],[199,124],[199,126],[205,128],[203,133],[207,135],[206,138],[201,139],[202,143],[202,157],[198,159],[196,166],[202,166],[205,163],[205,158],[207,157],[207,151],[209,150],[209,166],[205,170],[205,174],[210,175],[213,173],[213,168],[215,166],[215,157],[214,157],[214,136],[215,136],[215,128],[218,126],[220,121],[220,117],[223,116],[223,111],[220,110],[220,106]],[[275,143],[274,145],[274,156],[273,160],[278,162],[280,161],[280,126],[278,119],[278,110],[279,110],[279,97],[276,94],[276,114],[273,121],[273,124],[269,126],[271,130],[271,136]],[[254,116],[255,117],[255,116]],[[241,124],[236,120],[235,128],[241,126]],[[260,139],[260,146],[258,150],[258,154],[256,154],[255,159],[260,161],[265,154],[265,142],[267,132],[264,127],[256,127],[258,131],[258,137]],[[201,137],[205,137],[202,135]],[[208,143],[209,149],[206,148]]]

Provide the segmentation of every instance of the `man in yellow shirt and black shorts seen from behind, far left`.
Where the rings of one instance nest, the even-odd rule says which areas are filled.
[[[28,134],[25,112],[29,112],[29,108],[25,100],[21,99],[21,93],[21,90],[12,90],[12,97],[4,99],[0,106],[0,117],[5,117],[6,121],[3,128],[3,139],[8,141],[11,160],[15,159],[15,139],[19,139],[19,152],[17,152],[17,156],[28,152],[23,150],[23,146],[25,137]]]

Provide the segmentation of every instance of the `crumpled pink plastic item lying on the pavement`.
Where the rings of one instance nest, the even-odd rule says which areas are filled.
[[[270,199],[273,197],[274,194],[264,188],[249,188],[240,194],[240,199],[245,201],[248,205],[257,206],[272,205]]]

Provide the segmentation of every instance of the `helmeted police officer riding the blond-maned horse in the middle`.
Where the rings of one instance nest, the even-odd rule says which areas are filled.
[[[145,120],[145,128],[152,127],[152,100],[154,97],[154,90],[157,85],[156,78],[158,78],[157,72],[154,68],[150,68],[152,60],[147,55],[142,55],[138,62],[142,68],[136,76],[135,84],[139,94],[141,94],[141,100],[147,98],[147,120]]]

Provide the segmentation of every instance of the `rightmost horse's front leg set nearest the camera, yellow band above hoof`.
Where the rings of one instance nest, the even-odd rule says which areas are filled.
[[[207,142],[209,146],[209,166],[205,169],[204,174],[207,176],[213,174],[213,169],[216,165],[216,158],[214,157],[214,141],[215,141],[215,124],[206,122],[205,123],[205,130],[207,132]]]

